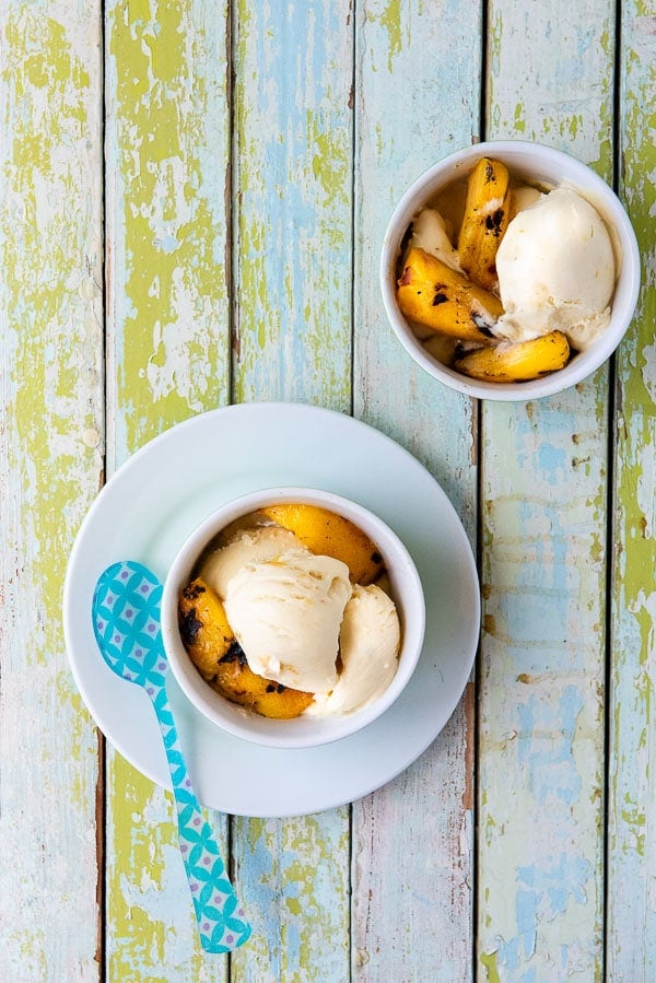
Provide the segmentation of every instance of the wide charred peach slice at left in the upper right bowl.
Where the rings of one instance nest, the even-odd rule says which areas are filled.
[[[499,297],[424,249],[408,251],[397,284],[402,314],[461,341],[490,344],[491,328],[503,314]]]

